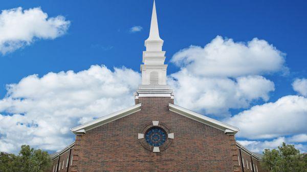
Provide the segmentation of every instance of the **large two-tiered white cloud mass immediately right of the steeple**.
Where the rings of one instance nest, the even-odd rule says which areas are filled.
[[[268,101],[274,83],[262,74],[287,72],[284,53],[265,40],[234,42],[214,38],[204,48],[190,46],[171,58],[181,68],[169,83],[176,102],[207,115],[227,116],[229,109],[248,108]]]

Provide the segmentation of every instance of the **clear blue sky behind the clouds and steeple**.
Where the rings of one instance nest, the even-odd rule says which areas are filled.
[[[229,106],[226,109],[230,112],[230,116],[237,115],[244,110],[250,110],[257,104],[276,102],[283,96],[300,96],[303,99],[302,101],[305,101],[303,93],[294,91],[292,87],[292,83],[297,78],[307,78],[307,52],[305,51],[307,46],[307,13],[305,12],[307,3],[305,1],[193,0],[191,2],[157,0],[156,4],[160,36],[164,39],[163,49],[166,51],[166,63],[169,65],[168,75],[178,73],[183,68],[176,66],[174,62],[169,62],[175,53],[191,45],[204,47],[217,35],[222,36],[225,40],[230,38],[237,43],[243,42],[243,45],[248,44],[247,42],[253,38],[263,39],[283,53],[282,58],[286,61],[282,66],[289,69],[288,73],[284,74],[280,70],[257,73],[257,75],[274,82],[275,90],[265,93],[269,96],[268,99],[264,100],[259,96],[260,98],[252,99],[247,106]],[[48,14],[48,17],[61,15],[65,17],[66,21],[70,21],[70,25],[68,25],[69,27],[64,34],[56,36],[54,39],[34,37],[29,45],[5,54],[0,53],[0,100],[3,104],[6,100],[5,95],[9,92],[6,85],[17,84],[21,79],[33,74],[38,74],[38,78],[40,78],[49,72],[58,74],[60,71],[73,70],[77,73],[84,70],[89,71],[91,65],[105,65],[111,72],[114,72],[114,67],[125,71],[126,69],[122,69],[124,66],[133,70],[131,75],[134,76],[134,72],[139,72],[142,51],[145,50],[144,40],[148,37],[150,27],[152,1],[11,0],[0,3],[1,10],[17,7],[22,7],[24,10],[40,7],[41,11]],[[135,26],[140,26],[142,29],[131,32],[130,29]],[[235,80],[235,77],[232,76],[227,76],[227,78]],[[128,87],[133,88],[134,84],[131,83],[131,85]],[[10,93],[12,92],[14,92],[14,89]],[[130,92],[126,94],[130,95]],[[21,96],[21,98],[18,98],[23,100],[29,97]],[[115,102],[119,103],[118,101]],[[180,105],[185,106],[184,103]],[[106,111],[111,112],[111,109],[113,110],[114,107],[107,107]],[[206,108],[199,108],[195,111],[205,114],[209,112]],[[3,116],[13,116],[13,114],[26,114],[24,116],[27,116],[27,113],[27,110],[18,110],[15,105],[1,106],[0,101],[0,114]],[[303,113],[302,119],[306,119],[307,112],[305,109],[299,113],[300,115]],[[213,115],[211,113],[206,115],[228,121],[224,119],[225,116],[216,116],[214,113]],[[95,117],[97,116],[91,116],[91,118]],[[70,125],[89,120],[79,120],[79,116],[72,118],[75,122],[70,123]],[[18,121],[18,118],[16,120]],[[16,121],[14,120],[14,122]],[[35,120],[30,123],[33,124],[30,126],[34,128],[39,125],[39,122]],[[10,149],[3,150],[16,152],[17,145],[10,142],[12,138],[9,138],[8,133],[6,133],[6,130],[9,131],[10,127],[11,125],[2,128],[0,138],[5,141],[0,142],[0,145],[10,144]],[[23,129],[20,133],[25,131]],[[288,140],[291,140],[293,139],[291,137],[296,135],[305,138],[305,134],[306,130],[298,130],[272,137],[255,136],[249,138],[242,136],[238,137],[238,140],[246,141],[247,146],[260,152],[265,147],[266,140],[274,141],[275,139],[276,141],[276,139],[280,140],[284,137],[287,141],[288,138]],[[43,134],[37,135],[42,139],[44,138]],[[52,148],[44,147],[38,143],[33,143],[33,145],[52,152],[60,149],[61,146],[63,147],[73,139],[73,135],[67,132],[67,128],[64,128],[62,135],[58,137],[70,139]],[[300,149],[306,151],[306,141],[289,141],[289,143],[301,146]],[[31,142],[25,143],[31,144]]]

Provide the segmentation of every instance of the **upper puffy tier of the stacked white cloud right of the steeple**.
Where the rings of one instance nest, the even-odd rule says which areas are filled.
[[[204,48],[190,46],[179,51],[171,61],[198,76],[238,77],[287,72],[283,66],[284,53],[257,38],[245,43],[217,36]]]

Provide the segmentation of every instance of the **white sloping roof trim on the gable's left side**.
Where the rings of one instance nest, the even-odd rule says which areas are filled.
[[[80,132],[86,132],[89,130],[92,130],[93,128],[96,128],[98,126],[104,125],[106,123],[115,121],[117,119],[123,118],[125,116],[128,116],[130,114],[136,113],[138,111],[141,111],[141,103],[127,107],[126,109],[114,112],[112,114],[106,115],[104,117],[95,119],[90,122],[86,122],[82,125],[76,126],[71,128],[71,131],[75,134],[79,134]]]

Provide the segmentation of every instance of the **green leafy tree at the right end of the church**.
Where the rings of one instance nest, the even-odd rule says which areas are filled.
[[[307,156],[294,145],[282,143],[277,149],[265,149],[261,165],[270,172],[306,172]]]

